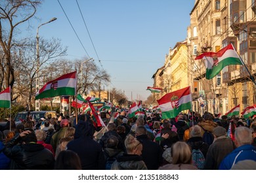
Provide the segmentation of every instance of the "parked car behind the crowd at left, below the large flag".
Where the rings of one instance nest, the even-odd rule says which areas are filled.
[[[15,124],[26,120],[28,116],[28,112],[30,112],[30,115],[33,116],[33,118],[38,122],[41,118],[47,118],[48,114],[52,114],[52,118],[56,118],[56,112],[55,111],[47,111],[47,110],[40,110],[40,111],[24,111],[24,112],[18,112],[14,118]]]

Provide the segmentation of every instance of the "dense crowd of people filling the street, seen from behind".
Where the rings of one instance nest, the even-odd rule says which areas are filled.
[[[104,126],[91,112],[7,123],[0,129],[0,169],[256,169],[256,120],[209,112],[100,116]]]

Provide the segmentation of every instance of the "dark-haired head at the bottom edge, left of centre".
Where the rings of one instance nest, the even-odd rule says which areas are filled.
[[[72,150],[63,150],[56,159],[55,170],[81,170],[79,156]]]

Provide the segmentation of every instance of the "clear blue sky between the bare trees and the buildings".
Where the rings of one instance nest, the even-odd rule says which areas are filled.
[[[38,25],[56,17],[40,27],[40,37],[61,39],[63,46],[68,46],[66,58],[95,59],[111,76],[110,88],[124,91],[129,99],[131,95],[146,99],[150,95],[146,88],[153,86],[152,76],[163,66],[169,47],[186,39],[193,7],[194,0],[45,0],[37,10],[39,20],[30,24],[36,35]]]

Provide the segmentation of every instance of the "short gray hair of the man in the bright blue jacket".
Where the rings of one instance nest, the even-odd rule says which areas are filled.
[[[253,137],[251,136],[251,129],[244,126],[237,127],[234,135],[238,146],[251,144],[251,141],[253,139]]]

